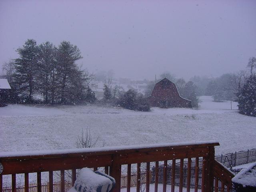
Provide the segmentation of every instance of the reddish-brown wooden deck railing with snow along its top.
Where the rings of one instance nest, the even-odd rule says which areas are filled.
[[[214,176],[230,189],[231,178],[219,164],[214,160],[214,146],[218,142],[198,142],[198,143],[180,143],[180,144],[153,144],[140,146],[122,146],[122,147],[103,147],[103,148],[85,148],[74,150],[55,150],[55,151],[36,151],[20,153],[1,153],[0,163],[3,166],[3,172],[0,174],[0,191],[2,191],[3,175],[12,175],[12,192],[16,192],[16,174],[24,174],[25,192],[29,188],[29,173],[37,173],[38,192],[41,192],[41,172],[49,172],[49,192],[53,192],[53,171],[60,171],[60,190],[65,191],[65,170],[71,170],[72,184],[76,180],[76,169],[89,167],[96,170],[103,167],[106,174],[114,177],[116,187],[114,192],[121,190],[121,172],[122,165],[127,165],[127,192],[130,192],[131,168],[136,164],[137,184],[136,191],[140,192],[140,166],[146,162],[146,192],[150,190],[150,162],[156,167],[156,178],[154,191],[158,192],[158,165],[163,161],[165,167],[171,163],[175,167],[176,162],[180,161],[180,186],[182,192],[183,162],[188,161],[187,173],[187,192],[190,192],[191,162],[192,158],[196,160],[196,186],[194,191],[198,191],[198,160],[203,158],[202,166],[202,192],[210,192],[214,189]],[[172,176],[175,175],[175,169],[172,169]],[[222,175],[223,174],[223,175]],[[163,173],[163,188],[166,192],[167,168]],[[174,178],[174,177],[172,177]],[[171,192],[174,192],[175,182],[171,181]],[[176,186],[177,187],[177,186]]]

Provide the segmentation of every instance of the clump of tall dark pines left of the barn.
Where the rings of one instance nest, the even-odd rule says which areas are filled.
[[[88,83],[89,74],[76,61],[81,59],[77,46],[62,41],[36,44],[28,39],[16,50],[19,58],[4,64],[6,78],[12,88],[9,102],[78,103],[94,101]]]

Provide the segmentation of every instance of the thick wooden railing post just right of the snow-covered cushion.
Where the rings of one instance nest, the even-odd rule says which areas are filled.
[[[121,164],[119,154],[114,154],[112,157],[112,165],[110,166],[110,176],[116,180],[116,186],[113,192],[121,190]]]

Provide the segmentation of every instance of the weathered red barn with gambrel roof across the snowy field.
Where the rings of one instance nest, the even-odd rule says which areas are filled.
[[[191,101],[182,98],[176,85],[167,78],[156,83],[148,102],[152,107],[191,107]]]

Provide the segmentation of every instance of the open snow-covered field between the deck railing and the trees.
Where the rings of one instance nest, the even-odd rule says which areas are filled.
[[[235,102],[200,97],[200,109],[152,108],[136,112],[87,106],[0,108],[0,151],[75,148],[82,129],[90,128],[97,146],[217,140],[216,153],[256,147],[256,118],[237,112]]]

